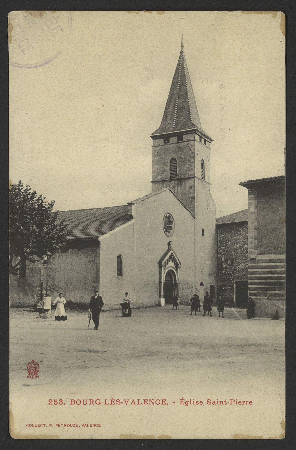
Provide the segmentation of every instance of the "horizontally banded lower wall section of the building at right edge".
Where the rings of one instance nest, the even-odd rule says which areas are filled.
[[[248,266],[249,296],[256,300],[285,300],[285,255],[257,255]]]

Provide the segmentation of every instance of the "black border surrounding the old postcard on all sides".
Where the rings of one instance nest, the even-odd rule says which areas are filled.
[[[35,449],[44,447],[45,449],[68,449],[73,446],[82,449],[191,449],[199,447],[201,449],[246,449],[252,446],[255,449],[293,449],[296,446],[296,408],[295,408],[295,384],[296,384],[296,363],[295,363],[295,342],[296,342],[296,308],[293,302],[296,300],[295,277],[295,254],[296,254],[296,202],[295,202],[295,151],[296,141],[296,3],[295,0],[183,0],[173,1],[94,1],[94,0],[69,0],[63,1],[7,1],[5,7],[1,9],[0,32],[2,38],[2,58],[0,60],[0,82],[1,82],[1,103],[0,123],[2,128],[1,145],[1,165],[0,165],[0,208],[3,211],[0,228],[0,293],[2,297],[1,324],[1,344],[2,363],[0,365],[0,380],[2,392],[0,396],[0,446],[4,449]],[[13,10],[192,10],[192,11],[283,11],[286,15],[286,174],[287,174],[287,254],[286,254],[286,274],[287,274],[287,317],[286,317],[286,437],[276,440],[231,440],[231,439],[188,439],[188,440],[16,440],[9,435],[9,296],[8,288],[8,183],[9,183],[9,119],[8,119],[8,40],[7,40],[7,14]],[[293,307],[294,306],[294,307]],[[263,380],[264,382],[264,380]],[[213,424],[215,426],[215,424]],[[99,442],[98,442],[99,441]]]

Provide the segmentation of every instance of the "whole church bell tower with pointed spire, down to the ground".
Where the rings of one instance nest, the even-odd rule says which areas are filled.
[[[169,187],[195,218],[194,290],[215,292],[216,206],[210,192],[212,138],[203,130],[184,54],[177,67],[159,128],[152,133],[152,192]],[[202,286],[202,287],[201,287]],[[215,294],[212,295],[215,299]]]

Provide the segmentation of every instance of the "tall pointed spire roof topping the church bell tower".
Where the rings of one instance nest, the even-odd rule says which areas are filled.
[[[163,118],[159,128],[151,136],[192,129],[199,130],[212,141],[203,131],[200,123],[199,112],[186,64],[182,35],[180,56],[164,108]]]

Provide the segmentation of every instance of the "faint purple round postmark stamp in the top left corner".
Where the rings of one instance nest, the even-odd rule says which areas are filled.
[[[70,11],[12,11],[8,20],[9,64],[26,69],[57,58],[72,27]]]

